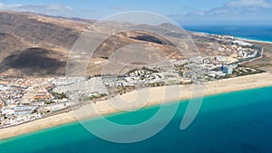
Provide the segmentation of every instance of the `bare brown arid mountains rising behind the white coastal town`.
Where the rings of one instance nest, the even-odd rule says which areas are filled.
[[[32,13],[15,13],[0,11],[0,76],[16,77],[41,77],[41,76],[60,76],[65,75],[67,59],[74,43],[86,30],[92,31],[92,24],[95,21],[79,18],[64,18],[46,16]],[[112,23],[106,23],[112,24]],[[122,24],[118,23],[118,26]],[[173,46],[171,41],[179,42],[186,35],[176,33],[176,27],[171,24],[160,24],[151,26],[146,24],[129,24],[131,29],[155,30],[163,35],[146,31],[124,31],[114,33],[99,45],[93,54],[93,58],[88,61],[88,74],[100,74],[105,62],[111,58],[112,54],[124,48],[123,52],[130,56],[130,46],[135,43],[143,43],[145,50],[160,50],[170,59],[182,59],[181,54]],[[102,33],[112,33],[111,28],[101,30]],[[219,54],[218,43],[214,40],[205,40],[192,34],[194,47],[198,47],[200,54],[216,55]],[[95,35],[92,39],[96,39]],[[92,42],[92,40],[90,40]],[[182,42],[182,41],[180,41]],[[184,43],[185,50],[191,51]],[[269,48],[269,47],[268,47]],[[125,49],[127,51],[125,51]],[[270,51],[270,50],[269,50]],[[152,52],[143,54],[145,58],[160,59],[160,53]],[[267,57],[267,56],[266,56]],[[141,58],[141,57],[140,57]],[[124,60],[130,60],[124,58]],[[262,68],[263,63],[257,67]]]

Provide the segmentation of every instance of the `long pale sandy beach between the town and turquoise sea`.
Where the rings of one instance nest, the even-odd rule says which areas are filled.
[[[272,86],[272,73],[265,72],[220,81],[208,81],[204,84],[205,89],[203,95],[209,96],[224,92],[243,91],[267,86]],[[180,88],[182,94],[177,94],[177,92],[170,91],[170,93],[173,94],[167,94],[167,99],[164,99],[165,88],[169,88],[169,90],[176,90],[177,87]],[[137,94],[135,94],[137,91],[125,93],[121,95],[121,97],[115,97],[114,99],[118,100],[118,98],[121,98],[122,100],[129,101],[129,104],[127,103],[126,105],[123,105],[121,107],[125,110],[135,110],[141,108],[142,106],[149,107],[153,105],[159,105],[165,102],[188,100],[191,97],[192,87],[191,85],[180,85],[139,90],[139,92],[143,93],[147,91],[149,91],[150,93],[150,97],[147,103],[141,103],[142,101],[139,100],[139,102],[134,101],[133,105],[130,104],[130,101],[133,101],[137,97]],[[96,103],[83,105],[83,107],[77,110],[64,112],[62,114],[50,116],[48,118],[40,120],[34,120],[15,127],[0,129],[0,139],[9,139],[29,132],[34,132],[36,130],[52,128],[55,126],[74,122],[77,119],[91,119],[97,116],[96,112],[88,111],[90,113],[87,114],[85,113],[86,111],[84,111],[85,109],[89,109],[90,105],[92,105],[95,110],[103,115],[120,112],[120,110],[113,108],[112,105],[108,103],[108,100],[97,101]],[[76,114],[77,116],[75,117],[74,114]]]

